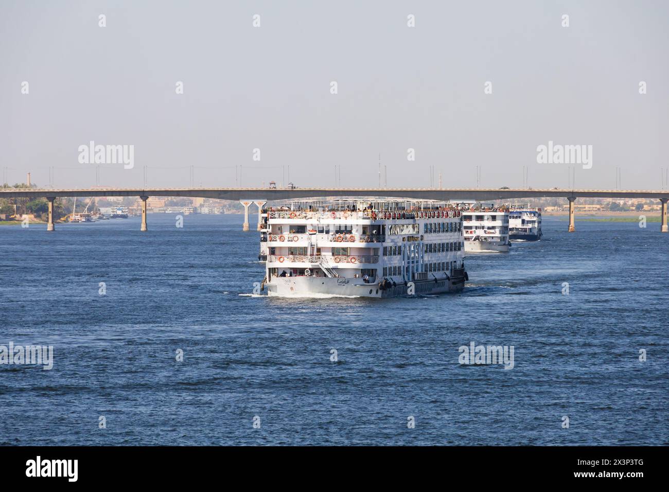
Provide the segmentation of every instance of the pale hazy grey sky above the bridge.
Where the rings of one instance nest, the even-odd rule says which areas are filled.
[[[106,15],[106,27],[98,16]],[[253,16],[260,15],[260,27]],[[407,27],[407,15],[415,27]],[[569,27],[562,27],[562,15]],[[660,188],[666,1],[0,3],[0,177],[96,184],[80,145],[134,145],[100,184],[566,187],[549,141],[592,145],[576,187]],[[183,82],[183,94],[175,92]],[[330,82],[337,94],[330,94]],[[492,94],[484,84],[492,82]],[[639,94],[639,82],[647,94]],[[22,94],[28,82],[28,94]],[[260,149],[260,161],[253,160]],[[407,149],[415,161],[407,161]],[[286,177],[286,181],[288,181]]]

